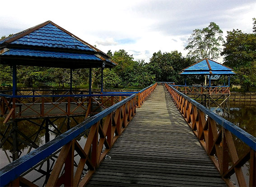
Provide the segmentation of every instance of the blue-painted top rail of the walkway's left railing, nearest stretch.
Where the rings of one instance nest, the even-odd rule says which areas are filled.
[[[88,120],[80,123],[74,128],[66,131],[57,138],[54,138],[50,142],[38,147],[34,151],[28,153],[25,156],[15,160],[14,162],[6,165],[4,168],[0,169],[0,186],[5,186],[11,181],[14,181],[21,174],[23,174],[28,169],[32,168],[38,162],[44,160],[61,147],[63,147],[68,142],[72,141],[74,138],[82,134],[86,129],[89,129],[92,125],[97,123],[103,117],[106,117],[111,112],[115,111],[117,108],[121,107],[126,102],[130,101],[135,97],[135,94],[130,95],[130,97],[116,103],[115,105],[105,109],[104,111],[92,116]]]

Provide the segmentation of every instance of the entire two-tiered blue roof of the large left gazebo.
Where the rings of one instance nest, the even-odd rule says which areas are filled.
[[[106,53],[51,21],[0,40],[0,62],[73,69],[116,66]]]

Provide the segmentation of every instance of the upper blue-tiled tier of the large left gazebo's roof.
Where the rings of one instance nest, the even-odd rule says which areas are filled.
[[[95,51],[51,23],[48,23],[46,26],[33,31],[10,44]]]

